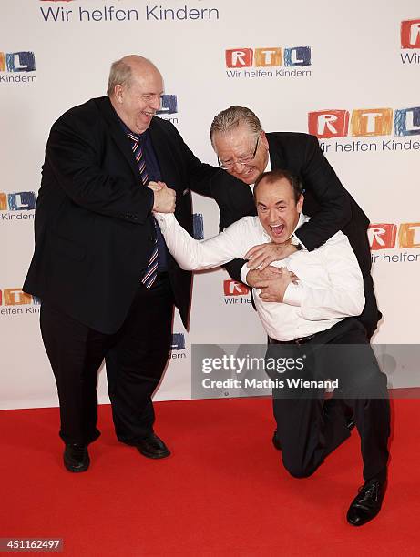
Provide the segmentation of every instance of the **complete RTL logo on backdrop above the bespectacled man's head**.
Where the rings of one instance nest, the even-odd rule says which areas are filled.
[[[231,48],[225,53],[227,67],[310,66],[310,46],[282,48]]]

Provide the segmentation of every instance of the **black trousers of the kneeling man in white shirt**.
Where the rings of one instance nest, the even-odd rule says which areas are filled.
[[[349,437],[345,410],[350,407],[361,438],[364,480],[384,480],[390,433],[387,381],[361,323],[343,319],[302,345],[271,344],[267,358],[302,359],[297,360],[302,369],[276,372],[284,386],[273,390],[282,461],[292,476],[310,476]],[[272,373],[271,379],[275,379]],[[290,387],[292,379],[337,380],[339,388],[324,404],[323,388],[296,383]]]

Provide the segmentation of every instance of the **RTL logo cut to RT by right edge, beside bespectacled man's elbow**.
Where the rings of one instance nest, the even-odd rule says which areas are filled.
[[[367,230],[371,249],[420,248],[420,222],[371,224]]]

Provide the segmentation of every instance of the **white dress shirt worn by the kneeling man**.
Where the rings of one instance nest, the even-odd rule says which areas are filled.
[[[181,268],[199,270],[244,258],[257,244],[269,243],[270,236],[258,217],[244,217],[218,236],[196,240],[182,228],[173,214],[156,213],[172,256]],[[301,214],[297,228],[309,218]],[[289,284],[282,302],[264,302],[253,289],[255,307],[271,339],[293,340],[330,329],[345,317],[360,315],[364,309],[364,281],[348,238],[339,231],[323,246],[309,252],[301,249],[288,258],[274,261],[298,278]]]

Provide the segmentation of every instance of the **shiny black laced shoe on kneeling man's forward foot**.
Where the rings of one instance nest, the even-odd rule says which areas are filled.
[[[362,526],[372,521],[381,510],[385,489],[386,481],[365,481],[347,511],[347,522],[353,526]]]

